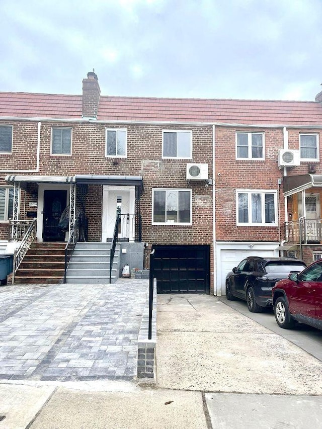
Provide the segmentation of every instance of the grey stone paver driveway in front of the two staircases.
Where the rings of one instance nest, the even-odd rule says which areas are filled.
[[[0,379],[136,377],[148,280],[0,288]]]

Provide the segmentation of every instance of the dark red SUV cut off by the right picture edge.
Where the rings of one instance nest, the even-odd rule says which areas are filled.
[[[277,282],[272,304],[281,328],[291,329],[298,321],[322,329],[322,259]]]

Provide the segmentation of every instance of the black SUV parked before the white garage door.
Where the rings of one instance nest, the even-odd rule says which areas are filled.
[[[272,305],[272,288],[290,273],[301,272],[306,265],[294,258],[261,258],[249,256],[226,277],[226,297],[244,299],[252,313]]]

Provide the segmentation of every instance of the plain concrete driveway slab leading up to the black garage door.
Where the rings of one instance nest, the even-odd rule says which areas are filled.
[[[158,388],[322,394],[322,362],[213,296],[158,295],[156,357]]]

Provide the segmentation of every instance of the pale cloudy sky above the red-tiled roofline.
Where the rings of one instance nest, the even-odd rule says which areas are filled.
[[[0,0],[0,91],[306,100],[322,0]]]

